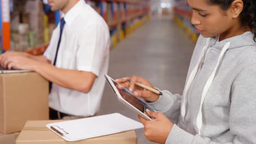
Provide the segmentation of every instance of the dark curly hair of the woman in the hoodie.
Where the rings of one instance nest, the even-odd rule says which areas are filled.
[[[223,10],[229,9],[235,0],[207,0],[210,4],[220,5]],[[243,26],[248,26],[254,34],[256,42],[256,0],[242,0],[243,10],[241,13],[241,22]]]

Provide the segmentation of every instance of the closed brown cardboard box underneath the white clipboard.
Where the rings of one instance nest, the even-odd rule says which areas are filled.
[[[46,124],[60,121],[28,121],[21,131],[16,144],[136,144],[134,130],[123,133],[95,137],[92,139],[68,142],[46,127]]]

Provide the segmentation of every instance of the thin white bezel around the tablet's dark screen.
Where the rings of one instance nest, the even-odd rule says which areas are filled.
[[[119,93],[118,88],[115,86],[115,84],[113,83],[113,79],[108,76],[107,74],[105,74],[106,80],[109,84],[109,86],[112,88],[112,90],[114,91],[115,95],[117,95],[117,98],[119,101],[121,101],[121,103],[123,103],[124,105],[126,105],[127,107],[129,107],[131,110],[133,110],[134,112],[136,112],[138,115],[142,116],[143,118],[147,119],[147,120],[152,120],[152,118],[150,118],[149,116],[147,116],[145,113],[141,112],[140,110],[138,110],[135,106],[133,106],[132,104],[130,104],[129,102],[127,102]],[[131,95],[133,95],[130,91],[128,91],[127,89],[125,89],[125,91],[129,92]],[[135,97],[133,95],[133,97]],[[136,98],[136,97],[135,97]],[[138,99],[138,98],[136,98]],[[139,100],[139,99],[138,99]],[[143,105],[143,104],[142,104]],[[143,105],[144,106],[144,105]]]

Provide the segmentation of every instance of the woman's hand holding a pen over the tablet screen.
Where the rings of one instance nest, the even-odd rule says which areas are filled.
[[[126,79],[131,79],[131,82],[127,81]],[[151,91],[148,91],[147,89],[144,89],[142,87],[139,87],[139,86],[135,85],[135,83],[138,82],[138,83],[142,83],[143,85],[154,88],[148,82],[148,80],[143,79],[142,77],[139,77],[139,76],[132,76],[132,78],[124,77],[122,79],[115,80],[115,82],[120,83],[120,85],[118,85],[119,89],[129,87],[130,91],[133,92],[133,94],[136,97],[141,97],[146,101],[154,102],[154,101],[158,100],[158,98],[159,98],[158,94],[155,94]]]

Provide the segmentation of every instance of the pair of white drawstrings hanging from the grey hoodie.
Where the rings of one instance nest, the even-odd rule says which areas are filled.
[[[184,100],[183,100],[183,103],[182,103],[182,111],[181,111],[183,122],[184,122],[184,117],[185,117],[185,113],[186,113],[186,109],[185,108],[186,108],[187,94],[188,94],[188,91],[189,91],[189,88],[190,88],[192,82],[195,79],[195,75],[196,75],[197,70],[199,68],[199,65],[200,65],[200,63],[202,61],[205,49],[207,48],[209,43],[210,43],[210,38],[207,39],[206,45],[205,45],[205,47],[203,47],[203,49],[201,51],[201,54],[200,54],[200,57],[199,57],[199,61],[197,62],[195,68],[191,72],[191,74],[189,76],[189,79],[188,79],[188,82],[187,82],[187,85],[185,86],[185,89],[184,89]],[[219,55],[219,58],[218,58],[218,62],[216,64],[216,66],[215,66],[211,76],[208,78],[205,87],[203,88],[200,108],[199,108],[199,112],[198,112],[197,117],[196,117],[196,124],[197,124],[197,128],[198,128],[198,131],[199,131],[199,135],[201,135],[201,128],[202,128],[202,104],[203,104],[203,101],[205,100],[206,94],[207,94],[208,90],[210,89],[210,87],[212,85],[213,79],[214,79],[214,77],[216,75],[216,71],[217,71],[217,69],[219,67],[219,63],[222,60],[226,50],[228,50],[229,46],[230,46],[230,42],[226,43],[225,46],[223,47],[222,51],[220,52],[220,55]]]

